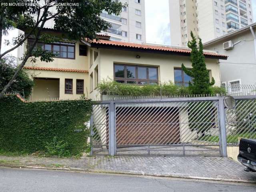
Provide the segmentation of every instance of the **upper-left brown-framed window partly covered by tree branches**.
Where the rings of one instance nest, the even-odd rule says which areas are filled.
[[[33,39],[28,40],[28,44],[33,43]],[[68,58],[74,59],[75,58],[75,44],[74,43],[67,43],[67,42],[55,42],[53,44],[42,44],[38,42],[36,44],[37,47],[41,47],[43,50],[51,51],[56,54],[58,58]]]

